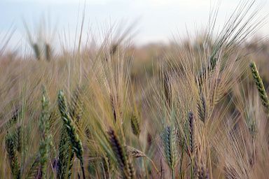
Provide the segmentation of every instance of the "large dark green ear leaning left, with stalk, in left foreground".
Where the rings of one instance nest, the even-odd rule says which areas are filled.
[[[67,134],[69,136],[72,149],[76,153],[76,157],[78,157],[78,159],[81,162],[83,178],[85,178],[84,164],[83,164],[83,148],[81,139],[78,137],[74,121],[71,119],[69,115],[67,101],[65,99],[64,92],[62,90],[60,90],[58,93],[58,107],[61,113],[62,120],[64,122],[65,129],[67,129]]]

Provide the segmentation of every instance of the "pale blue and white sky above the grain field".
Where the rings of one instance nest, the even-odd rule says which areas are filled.
[[[127,29],[134,24],[131,33],[135,34],[136,44],[167,42],[175,35],[186,36],[186,29],[189,33],[205,29],[210,10],[216,2],[216,0],[0,0],[0,39],[11,29],[15,29],[11,46],[25,43],[27,41],[23,23],[25,22],[32,34],[37,34],[41,28],[46,31],[48,40],[57,41],[66,33],[71,44],[75,39],[76,27],[81,26],[85,7],[83,38],[104,36],[112,26]],[[220,27],[239,2],[240,0],[221,1],[217,19]],[[268,3],[266,0],[257,0],[257,6],[263,7],[261,15],[269,12]],[[40,24],[46,24],[46,27],[41,27]],[[268,18],[258,34],[268,36]]]

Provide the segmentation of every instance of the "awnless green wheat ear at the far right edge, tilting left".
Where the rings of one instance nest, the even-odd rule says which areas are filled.
[[[255,62],[250,62],[249,67],[251,69],[252,76],[254,78],[254,81],[256,83],[256,87],[258,89],[258,94],[261,97],[261,103],[265,107],[265,112],[269,112],[269,99],[265,92],[265,88],[263,85],[263,80],[261,79],[261,76],[258,73],[258,69],[256,67]]]

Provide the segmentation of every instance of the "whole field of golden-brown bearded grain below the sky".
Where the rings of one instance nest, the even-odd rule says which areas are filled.
[[[0,178],[268,178],[264,19],[242,1],[216,29],[217,10],[169,45],[134,47],[132,27],[60,53],[3,43]]]

